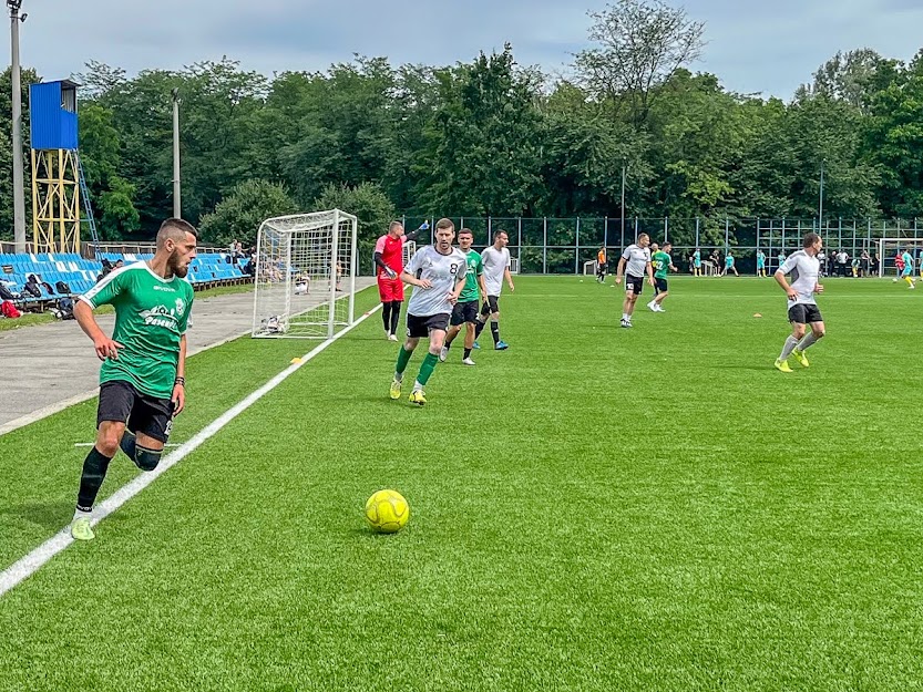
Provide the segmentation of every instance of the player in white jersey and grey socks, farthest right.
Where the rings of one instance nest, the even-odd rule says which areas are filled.
[[[791,335],[786,339],[782,353],[776,360],[776,368],[782,372],[791,372],[789,355],[794,355],[794,359],[807,368],[808,358],[804,351],[825,333],[823,317],[814,301],[814,293],[823,292],[823,286],[818,283],[820,276],[818,252],[823,247],[823,242],[819,235],[811,233],[804,236],[801,245],[802,249],[789,255],[775,275],[776,281],[788,296],[789,322],[791,322]],[[791,275],[791,283],[786,281],[786,275]],[[807,331],[807,326],[810,326],[810,332]]]

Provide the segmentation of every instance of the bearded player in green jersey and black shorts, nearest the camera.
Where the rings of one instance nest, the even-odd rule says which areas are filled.
[[[116,269],[78,300],[74,318],[93,340],[100,369],[96,443],[83,462],[71,536],[93,538],[93,504],[109,463],[122,451],[142,471],[161,461],[174,416],[186,405],[186,327],[193,287],[184,278],[195,259],[196,230],[166,219],[150,261]],[[112,337],[93,310],[115,308]]]

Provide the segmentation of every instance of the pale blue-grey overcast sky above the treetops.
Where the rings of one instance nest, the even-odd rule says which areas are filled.
[[[669,1],[669,0],[668,0]],[[669,1],[674,7],[680,3]],[[22,63],[45,80],[88,60],[134,74],[227,55],[267,75],[325,70],[352,53],[391,64],[470,61],[513,44],[516,60],[566,71],[588,47],[587,10],[605,0],[23,0]],[[688,0],[706,23],[694,65],[732,91],[789,99],[838,50],[910,60],[923,47],[923,0]],[[6,54],[9,37],[3,33]]]

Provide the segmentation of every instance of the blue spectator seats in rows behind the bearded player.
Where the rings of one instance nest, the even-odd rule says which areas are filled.
[[[152,257],[151,252],[100,252],[96,259],[83,259],[73,252],[0,254],[0,281],[13,295],[22,296],[17,300],[18,303],[48,302],[90,290],[103,271],[103,259],[112,265],[120,259],[125,265],[131,265]],[[229,264],[228,256],[224,252],[202,254],[189,266],[187,279],[194,286],[203,287],[237,282],[248,278],[243,268],[249,260],[239,262],[239,266]],[[42,286],[41,298],[33,298],[23,290],[30,275],[35,275],[42,285],[48,285]],[[59,281],[66,283],[70,292],[59,290]]]

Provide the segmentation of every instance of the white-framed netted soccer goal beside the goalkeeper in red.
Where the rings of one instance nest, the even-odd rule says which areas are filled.
[[[330,339],[352,324],[357,219],[330,209],[263,221],[254,338]]]

